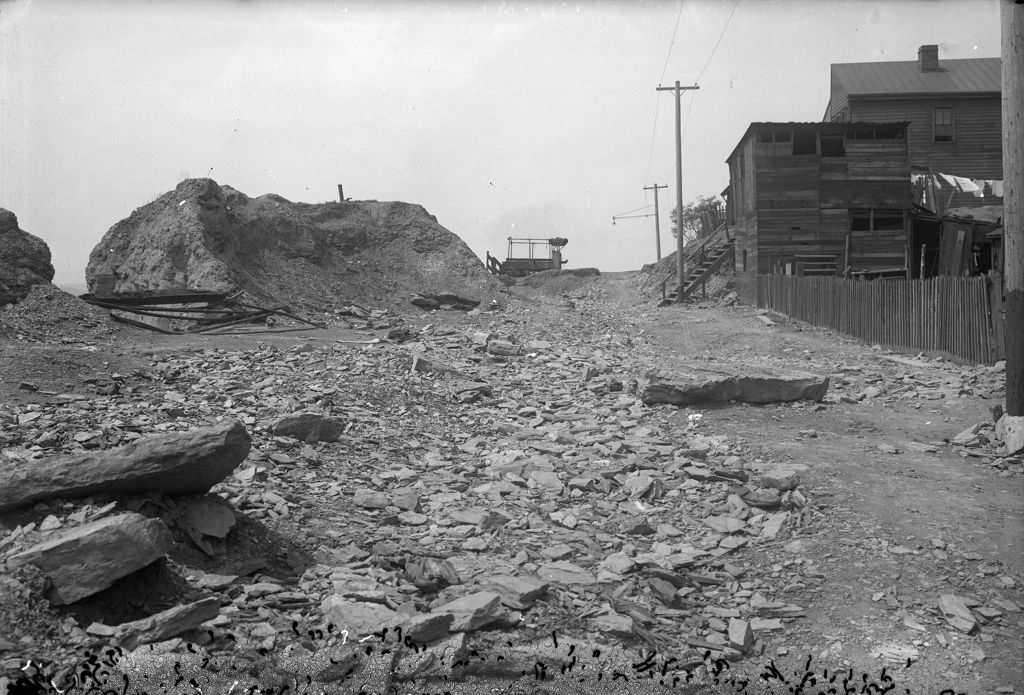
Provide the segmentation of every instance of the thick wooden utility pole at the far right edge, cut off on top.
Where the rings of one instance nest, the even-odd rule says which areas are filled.
[[[1002,238],[1006,270],[1007,449],[1024,447],[1024,4],[1001,0]]]

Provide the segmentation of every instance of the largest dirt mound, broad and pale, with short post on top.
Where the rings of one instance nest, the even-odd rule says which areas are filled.
[[[403,304],[412,293],[488,302],[502,287],[421,206],[249,198],[211,179],[186,179],[115,224],[86,281],[97,294],[242,290],[306,309]]]

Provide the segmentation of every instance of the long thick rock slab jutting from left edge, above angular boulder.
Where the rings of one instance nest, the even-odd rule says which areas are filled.
[[[153,435],[112,449],[19,462],[0,471],[0,511],[95,492],[202,494],[249,454],[241,422]]]

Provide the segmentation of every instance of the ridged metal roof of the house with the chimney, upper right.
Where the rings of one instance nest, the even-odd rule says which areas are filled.
[[[839,62],[831,82],[850,96],[976,94],[1001,91],[1000,69],[1000,58],[939,60],[937,71],[922,71],[916,60]]]

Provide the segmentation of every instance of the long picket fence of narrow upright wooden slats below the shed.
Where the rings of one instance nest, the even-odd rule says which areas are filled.
[[[874,345],[991,363],[1005,356],[999,285],[986,277],[759,275],[758,306]]]

